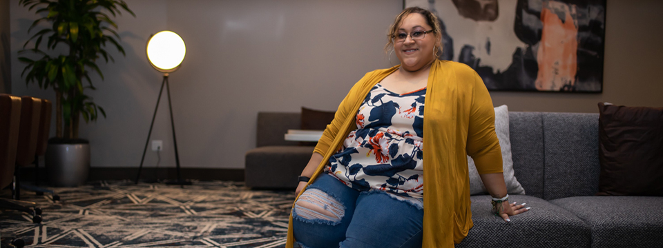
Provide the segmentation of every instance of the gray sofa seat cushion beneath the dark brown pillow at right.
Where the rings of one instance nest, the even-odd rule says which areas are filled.
[[[663,197],[575,196],[550,202],[590,225],[592,247],[663,247]]]

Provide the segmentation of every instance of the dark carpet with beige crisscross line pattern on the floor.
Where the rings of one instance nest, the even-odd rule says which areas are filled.
[[[50,189],[61,200],[21,194],[44,209],[41,223],[1,211],[1,231],[18,234],[26,247],[285,247],[295,197],[221,181],[184,189],[131,181]]]

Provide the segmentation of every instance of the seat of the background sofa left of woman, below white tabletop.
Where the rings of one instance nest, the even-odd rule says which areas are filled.
[[[296,188],[313,154],[312,146],[265,146],[251,149],[245,156],[244,181],[247,187]]]

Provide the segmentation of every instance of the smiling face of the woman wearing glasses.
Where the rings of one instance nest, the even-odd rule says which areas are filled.
[[[435,33],[425,34],[423,39],[412,39],[414,32],[426,32],[433,28],[426,23],[425,17],[419,13],[408,14],[401,25],[396,30],[394,38],[394,53],[401,61],[401,66],[407,71],[416,71],[433,61],[433,48],[435,47]],[[398,41],[398,37],[403,37],[404,41]]]

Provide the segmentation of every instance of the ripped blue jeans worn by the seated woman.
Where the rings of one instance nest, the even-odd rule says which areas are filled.
[[[303,248],[421,247],[423,209],[380,190],[359,192],[321,174],[295,203]]]

